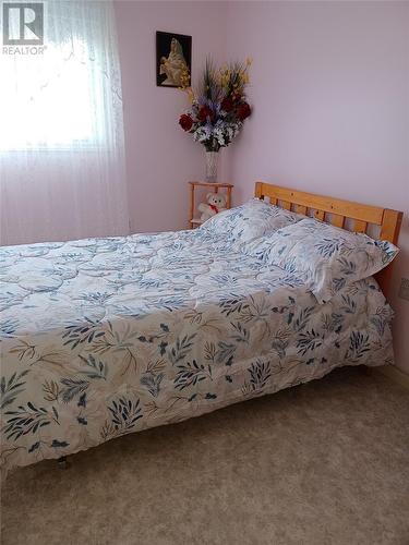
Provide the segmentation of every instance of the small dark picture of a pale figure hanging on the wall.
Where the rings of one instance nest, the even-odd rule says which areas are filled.
[[[192,73],[192,36],[156,33],[156,85],[181,87],[190,85]]]

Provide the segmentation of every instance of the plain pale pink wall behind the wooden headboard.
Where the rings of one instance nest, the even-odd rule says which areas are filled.
[[[390,299],[409,373],[409,3],[233,2],[228,22],[227,57],[254,59],[254,113],[228,150],[236,203],[264,179],[404,210]]]

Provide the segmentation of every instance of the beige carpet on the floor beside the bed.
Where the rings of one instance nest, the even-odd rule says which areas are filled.
[[[408,545],[408,391],[340,370],[17,470],[1,544]]]

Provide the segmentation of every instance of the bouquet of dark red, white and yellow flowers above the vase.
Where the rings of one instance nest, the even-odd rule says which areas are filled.
[[[191,107],[182,113],[179,124],[193,134],[193,140],[203,144],[206,152],[227,147],[251,114],[244,93],[250,65],[248,59],[244,63],[234,62],[217,71],[207,59],[199,93],[192,87],[182,87]]]

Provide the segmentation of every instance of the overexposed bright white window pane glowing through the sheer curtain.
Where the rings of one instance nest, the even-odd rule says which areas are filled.
[[[75,47],[86,55],[84,43]],[[3,57],[1,74],[0,149],[98,143],[103,112],[88,66],[70,55],[70,46],[49,45],[41,57]]]

